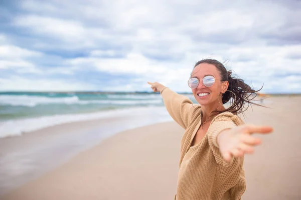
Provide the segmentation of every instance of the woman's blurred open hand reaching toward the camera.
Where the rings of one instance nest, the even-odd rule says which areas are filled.
[[[253,153],[254,146],[261,143],[261,139],[253,133],[269,133],[270,126],[241,125],[221,131],[217,136],[220,152],[226,161],[234,157],[241,157],[245,153]]]

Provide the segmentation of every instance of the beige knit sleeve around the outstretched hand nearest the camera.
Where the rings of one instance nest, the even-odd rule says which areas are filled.
[[[229,129],[241,124],[243,124],[242,120],[237,115],[234,115],[231,112],[224,112],[222,114],[219,114],[212,120],[207,134],[209,145],[213,151],[217,163],[223,164],[224,166],[229,166],[234,160],[234,157],[232,157],[230,161],[223,159],[217,143],[217,135],[222,130]]]

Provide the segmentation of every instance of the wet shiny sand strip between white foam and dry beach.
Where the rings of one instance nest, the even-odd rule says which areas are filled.
[[[21,136],[0,138],[0,195],[60,166],[116,133],[171,120],[166,116],[166,110],[147,110],[143,115],[132,112],[118,117],[69,122]],[[157,117],[149,117],[152,114]]]

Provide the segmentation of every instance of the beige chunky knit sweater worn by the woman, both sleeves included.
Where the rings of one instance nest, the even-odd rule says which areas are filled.
[[[201,125],[201,106],[167,87],[161,94],[170,115],[185,128],[181,140],[177,199],[240,199],[246,188],[243,157],[226,162],[220,154],[216,137],[223,129],[243,124],[243,121],[231,112],[218,114],[203,139],[191,146]]]

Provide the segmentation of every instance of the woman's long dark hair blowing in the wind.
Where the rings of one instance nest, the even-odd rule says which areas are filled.
[[[260,91],[263,86],[258,90],[254,90],[252,87],[246,84],[243,79],[233,77],[232,71],[227,71],[226,67],[216,59],[202,59],[195,64],[194,68],[201,63],[213,64],[220,72],[221,80],[227,80],[229,82],[228,89],[222,96],[223,104],[227,103],[231,98],[233,98],[234,101],[230,107],[226,108],[226,110],[215,110],[213,112],[222,113],[228,111],[232,112],[233,114],[239,114],[244,112],[250,105],[262,106],[253,102],[252,100],[257,95],[255,92]]]

